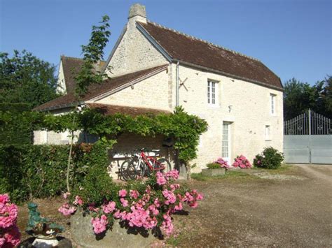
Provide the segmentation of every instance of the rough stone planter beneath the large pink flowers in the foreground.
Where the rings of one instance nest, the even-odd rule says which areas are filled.
[[[151,231],[123,226],[114,220],[111,229],[96,236],[92,231],[91,216],[77,210],[70,218],[71,238],[81,247],[151,247],[158,238]]]

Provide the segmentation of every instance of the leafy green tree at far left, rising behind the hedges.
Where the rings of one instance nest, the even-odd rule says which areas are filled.
[[[13,57],[0,52],[0,102],[29,103],[31,108],[55,99],[55,66],[32,55],[14,50]]]

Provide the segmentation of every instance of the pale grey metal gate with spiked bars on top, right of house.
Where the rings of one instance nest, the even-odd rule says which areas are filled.
[[[332,164],[332,120],[308,112],[284,122],[286,163]]]

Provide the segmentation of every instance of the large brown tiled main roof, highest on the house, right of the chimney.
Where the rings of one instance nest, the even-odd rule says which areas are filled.
[[[237,78],[282,89],[282,82],[261,61],[238,52],[222,48],[207,41],[188,36],[153,22],[141,23],[145,31],[172,59],[210,68]]]

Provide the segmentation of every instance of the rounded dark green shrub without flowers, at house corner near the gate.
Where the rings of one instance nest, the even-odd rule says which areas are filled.
[[[254,166],[268,169],[277,169],[282,166],[284,155],[273,147],[266,147],[254,159]]]

